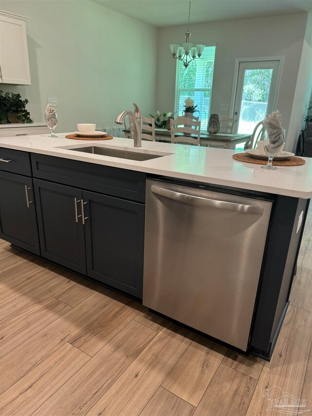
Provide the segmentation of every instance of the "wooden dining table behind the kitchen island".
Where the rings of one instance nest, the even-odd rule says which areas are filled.
[[[130,130],[123,130],[125,137],[131,138]],[[183,133],[176,133],[176,137],[185,136]],[[188,135],[188,137],[197,138],[197,135]],[[245,147],[250,142],[251,134],[243,133],[208,133],[200,132],[200,146],[209,147],[220,147],[224,149],[235,149],[236,144],[246,143]],[[171,142],[171,132],[168,129],[155,128],[155,139],[156,141],[168,141]]]

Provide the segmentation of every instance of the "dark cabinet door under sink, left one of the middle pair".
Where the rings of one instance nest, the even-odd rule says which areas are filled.
[[[42,257],[85,274],[82,191],[39,179],[34,187]]]

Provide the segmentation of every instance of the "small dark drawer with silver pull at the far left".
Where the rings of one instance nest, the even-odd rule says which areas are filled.
[[[0,147],[0,170],[31,176],[29,153]]]

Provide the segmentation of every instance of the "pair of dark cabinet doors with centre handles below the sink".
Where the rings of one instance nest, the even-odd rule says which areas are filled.
[[[42,257],[141,298],[144,204],[34,179]]]

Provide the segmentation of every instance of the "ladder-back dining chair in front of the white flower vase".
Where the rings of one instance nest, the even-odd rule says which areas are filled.
[[[184,127],[184,124],[191,125],[191,127]],[[200,144],[200,121],[188,119],[187,117],[177,117],[174,120],[170,120],[170,131],[172,143],[191,143],[196,146]],[[179,133],[179,136],[176,136],[177,133]],[[191,137],[191,135],[197,136],[197,138]]]

